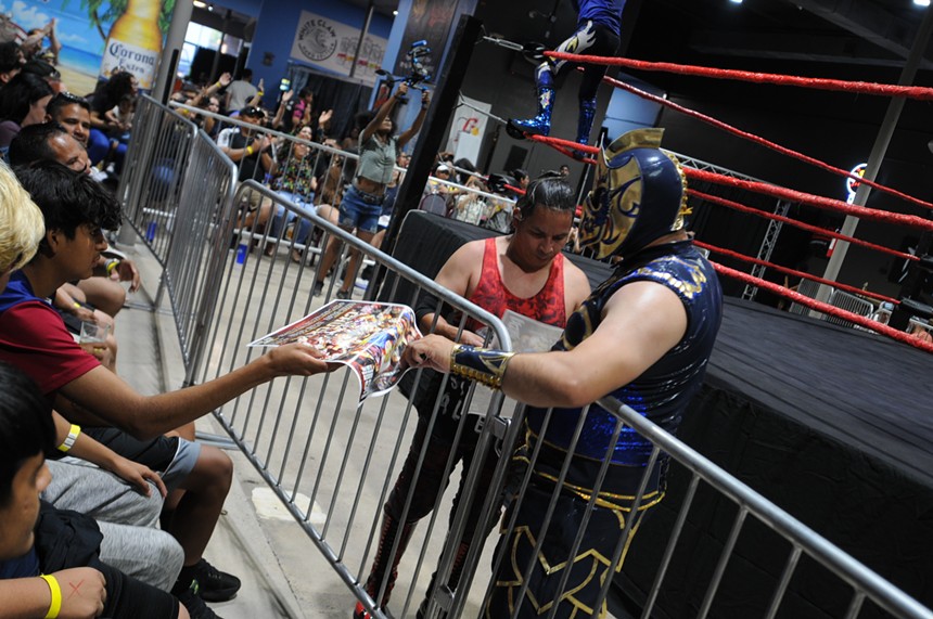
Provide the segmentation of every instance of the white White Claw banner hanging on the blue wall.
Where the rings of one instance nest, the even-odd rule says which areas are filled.
[[[348,76],[359,44],[360,29],[316,13],[302,11],[292,43],[292,59]],[[373,86],[382,66],[386,39],[368,33],[360,49],[354,78]]]

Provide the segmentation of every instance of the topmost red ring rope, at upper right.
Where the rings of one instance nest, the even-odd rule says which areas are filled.
[[[836,90],[858,94],[904,96],[907,99],[917,99],[920,101],[933,101],[933,88],[924,88],[920,86],[894,86],[891,83],[873,83],[870,81],[845,81],[841,79],[826,79],[821,77],[795,77],[792,75],[777,75],[772,73],[755,73],[751,70],[736,70],[675,63],[647,62],[615,56],[568,54],[564,52],[545,52],[545,55],[554,60],[571,61],[583,64],[624,66],[626,68],[676,73],[680,75],[712,77],[716,79],[736,79],[739,81],[750,81],[753,83],[796,86],[800,88],[811,88],[816,90]]]

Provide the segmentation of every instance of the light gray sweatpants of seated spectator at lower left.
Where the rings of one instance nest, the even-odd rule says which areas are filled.
[[[153,486],[143,497],[116,475],[74,457],[48,461],[52,481],[42,499],[98,521],[104,536],[101,560],[164,591],[171,589],[184,553],[157,528],[162,497]]]

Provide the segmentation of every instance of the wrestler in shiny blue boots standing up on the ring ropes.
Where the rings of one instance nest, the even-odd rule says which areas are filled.
[[[573,4],[577,11],[577,29],[554,51],[597,56],[615,54],[625,0],[573,0]],[[538,65],[535,69],[538,115],[525,120],[510,119],[507,126],[510,136],[521,139],[525,133],[547,136],[550,132],[551,112],[554,107],[554,76],[567,64],[567,61],[546,59]],[[580,144],[589,141],[596,115],[596,92],[605,69],[605,65],[584,66],[584,77],[577,91],[579,115],[576,141]]]

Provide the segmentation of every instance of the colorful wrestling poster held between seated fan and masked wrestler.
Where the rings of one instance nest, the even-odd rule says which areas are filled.
[[[360,402],[382,396],[401,378],[401,353],[421,337],[408,306],[334,300],[248,346],[306,341],[325,361],[344,363],[360,383]]]

